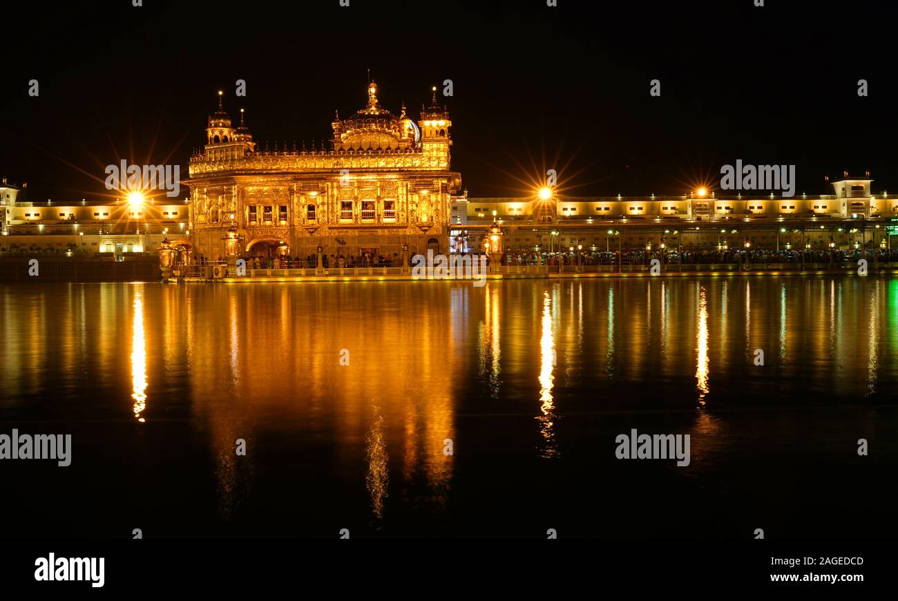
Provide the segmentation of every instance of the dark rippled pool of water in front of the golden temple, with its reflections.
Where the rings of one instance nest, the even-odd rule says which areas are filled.
[[[17,517],[0,537],[898,533],[898,279],[95,284],[0,302],[0,433],[74,446],[67,468],[0,462]],[[634,428],[690,434],[691,464],[616,459]]]

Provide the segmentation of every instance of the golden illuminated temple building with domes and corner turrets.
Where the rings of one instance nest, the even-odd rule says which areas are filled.
[[[333,137],[319,147],[286,143],[273,150],[253,141],[241,110],[233,127],[219,93],[206,145],[190,159],[190,238],[196,254],[223,256],[226,231],[237,228],[245,255],[306,257],[319,245],[333,255],[390,257],[446,252],[450,199],[461,187],[451,171],[452,121],[436,88],[416,123],[381,106],[377,85]]]

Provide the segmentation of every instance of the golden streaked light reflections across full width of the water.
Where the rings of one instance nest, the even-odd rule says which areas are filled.
[[[721,409],[898,393],[894,279],[20,286],[0,301],[4,420],[94,420],[98,439],[154,453],[139,420],[214,481],[225,522],[253,499],[295,504],[272,496],[285,486],[387,525],[451,513],[462,482],[499,477],[489,457],[585,462],[604,436],[586,420],[606,412],[681,411],[708,457],[694,474],[735,444]]]

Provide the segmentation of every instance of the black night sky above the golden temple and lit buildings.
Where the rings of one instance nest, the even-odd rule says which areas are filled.
[[[335,109],[364,106],[368,68],[386,107],[404,100],[415,119],[429,86],[453,80],[453,169],[471,196],[525,194],[549,167],[568,194],[681,194],[737,158],[797,164],[799,194],[843,169],[898,192],[880,2],[144,4],[9,15],[0,173],[31,199],[101,195],[120,158],[186,177],[218,88],[263,143],[327,139]]]

